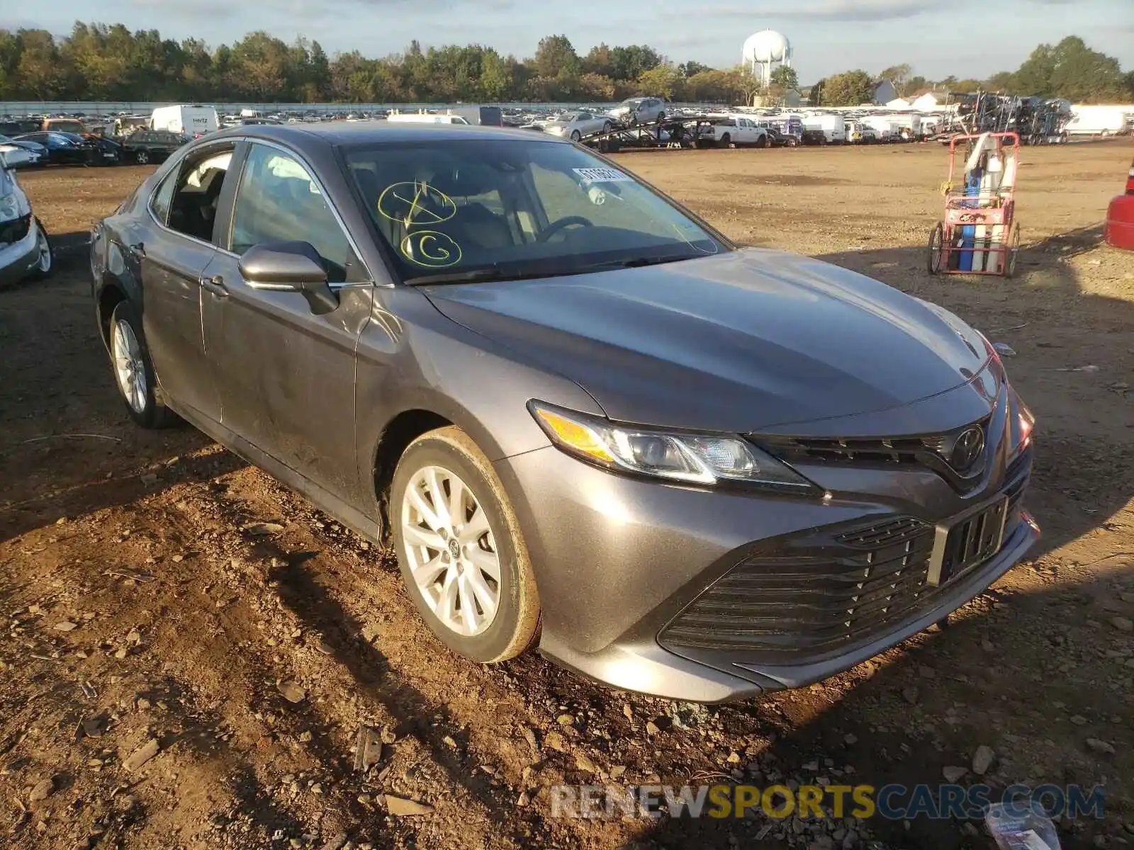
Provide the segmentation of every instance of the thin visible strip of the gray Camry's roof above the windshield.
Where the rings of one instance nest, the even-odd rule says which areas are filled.
[[[227,136],[245,136],[280,142],[303,150],[320,143],[330,145],[365,145],[405,142],[458,142],[469,138],[528,139],[548,144],[570,144],[555,136],[506,127],[477,127],[460,124],[405,124],[383,120],[327,121],[323,124],[254,124],[211,133],[201,141]]]

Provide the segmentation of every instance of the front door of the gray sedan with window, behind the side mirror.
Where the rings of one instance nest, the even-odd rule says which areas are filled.
[[[210,267],[205,349],[221,424],[338,499],[361,493],[355,464],[355,347],[370,317],[370,275],[320,184],[294,153],[251,142],[229,235]],[[303,295],[255,289],[239,255],[302,240],[323,258],[339,298],[314,315]]]

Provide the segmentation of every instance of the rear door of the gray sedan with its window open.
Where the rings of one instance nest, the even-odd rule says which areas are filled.
[[[201,281],[217,257],[213,220],[234,144],[195,152],[170,171],[150,201],[153,219],[122,246],[141,267],[142,326],[162,392],[174,406],[220,418],[205,360]]]

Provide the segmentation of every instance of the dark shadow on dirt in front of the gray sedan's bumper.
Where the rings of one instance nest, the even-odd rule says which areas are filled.
[[[1134,590],[1134,573],[1127,567],[1082,585],[1060,584],[1053,578],[1036,594],[993,592],[976,603],[979,610],[970,606],[947,628],[919,636],[873,674],[860,673],[826,709],[806,723],[785,724],[767,749],[737,765],[745,777],[735,781],[761,789],[789,781],[804,785],[866,784],[875,789],[872,797],[880,800],[878,790],[899,787],[886,798],[896,809],[891,814],[896,819],[882,815],[863,823],[829,818],[824,827],[821,819],[812,817],[801,821],[751,814],[738,821],[686,816],[659,821],[624,848],[991,847],[979,828],[979,817],[932,819],[923,814],[903,823],[906,818],[900,809],[912,801],[913,789],[928,784],[939,799],[939,787],[947,784],[945,768],[950,766],[962,768],[963,776],[955,782],[966,788],[985,785],[989,801],[1001,799],[1006,789],[1017,783],[1033,790],[1044,784],[1061,789],[1078,784],[1086,794],[1099,785],[1103,789],[1103,819],[1063,819],[1063,848],[1110,847],[1108,842],[1123,835],[1129,842],[1134,835],[1125,833],[1122,824],[1129,823],[1131,811],[1117,809],[1115,800],[1128,797],[1134,776],[1132,690],[1128,680],[1117,687],[1099,657],[1103,647],[1125,640],[1107,620],[1117,615],[1116,611],[1131,615],[1134,604],[1114,604],[1119,593],[1129,590]],[[1055,622],[1059,626],[1053,627]],[[1092,622],[1101,628],[1093,630]],[[1098,635],[1093,640],[1092,634]],[[1036,644],[1046,655],[1035,653]],[[1019,669],[1015,647],[1022,657],[1029,652],[1032,657],[1039,655],[1040,664]],[[1073,671],[1061,672],[1067,668]],[[1091,699],[1083,699],[1084,689],[1090,689]],[[768,714],[764,700],[721,711]],[[726,722],[725,728],[728,725]],[[1108,742],[1117,755],[1092,751],[1088,739]],[[983,776],[972,770],[980,746],[995,753]],[[729,767],[734,765],[726,770]],[[663,776],[662,783],[667,781],[682,782]],[[824,799],[828,814],[831,800],[830,796]],[[972,826],[965,827],[965,823]],[[864,825],[880,843],[860,840]],[[763,840],[758,840],[760,835]],[[1097,844],[1099,835],[1108,838]]]

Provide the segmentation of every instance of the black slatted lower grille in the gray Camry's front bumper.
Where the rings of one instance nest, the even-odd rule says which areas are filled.
[[[1004,537],[1019,522],[1031,451],[1008,469]],[[963,524],[956,528],[964,530]],[[915,517],[828,526],[758,544],[658,635],[671,652],[743,653],[745,663],[821,661],[870,643],[936,604],[993,552],[929,583],[937,527]]]

